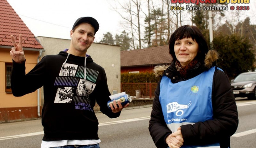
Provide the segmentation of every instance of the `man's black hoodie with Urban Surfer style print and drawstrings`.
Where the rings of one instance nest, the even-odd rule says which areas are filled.
[[[110,118],[120,115],[108,108],[111,94],[105,71],[90,56],[85,61],[85,57],[64,51],[47,55],[28,74],[25,74],[25,62],[13,61],[11,88],[14,96],[23,96],[42,86],[44,141],[99,139],[99,122],[93,110],[96,101],[103,114]]]

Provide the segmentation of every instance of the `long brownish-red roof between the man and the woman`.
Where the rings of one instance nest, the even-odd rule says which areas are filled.
[[[170,64],[169,46],[121,51],[121,67]]]

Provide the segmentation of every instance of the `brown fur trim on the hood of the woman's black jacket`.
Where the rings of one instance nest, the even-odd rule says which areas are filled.
[[[212,64],[216,62],[218,59],[218,53],[215,50],[209,50],[208,53],[205,55],[204,59],[204,66],[205,68],[210,69],[212,67]],[[154,68],[154,74],[156,77],[161,77],[165,70],[169,67],[170,65],[159,65],[155,66]]]

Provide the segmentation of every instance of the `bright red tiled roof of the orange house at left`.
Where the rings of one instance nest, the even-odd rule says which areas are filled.
[[[22,34],[23,47],[43,49],[35,39],[34,34],[28,29],[7,0],[0,0],[0,45],[13,46],[10,35],[14,35],[16,42],[18,42],[20,33]]]

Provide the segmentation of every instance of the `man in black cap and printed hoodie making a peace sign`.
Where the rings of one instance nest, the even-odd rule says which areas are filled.
[[[107,106],[111,94],[105,71],[86,54],[98,29],[99,24],[92,17],[77,19],[70,31],[69,49],[44,56],[28,74],[25,74],[22,35],[18,44],[11,35],[13,95],[22,96],[44,86],[41,148],[99,148],[99,123],[93,110],[96,101],[100,111],[110,118],[118,117],[129,105],[114,103],[111,110]]]

